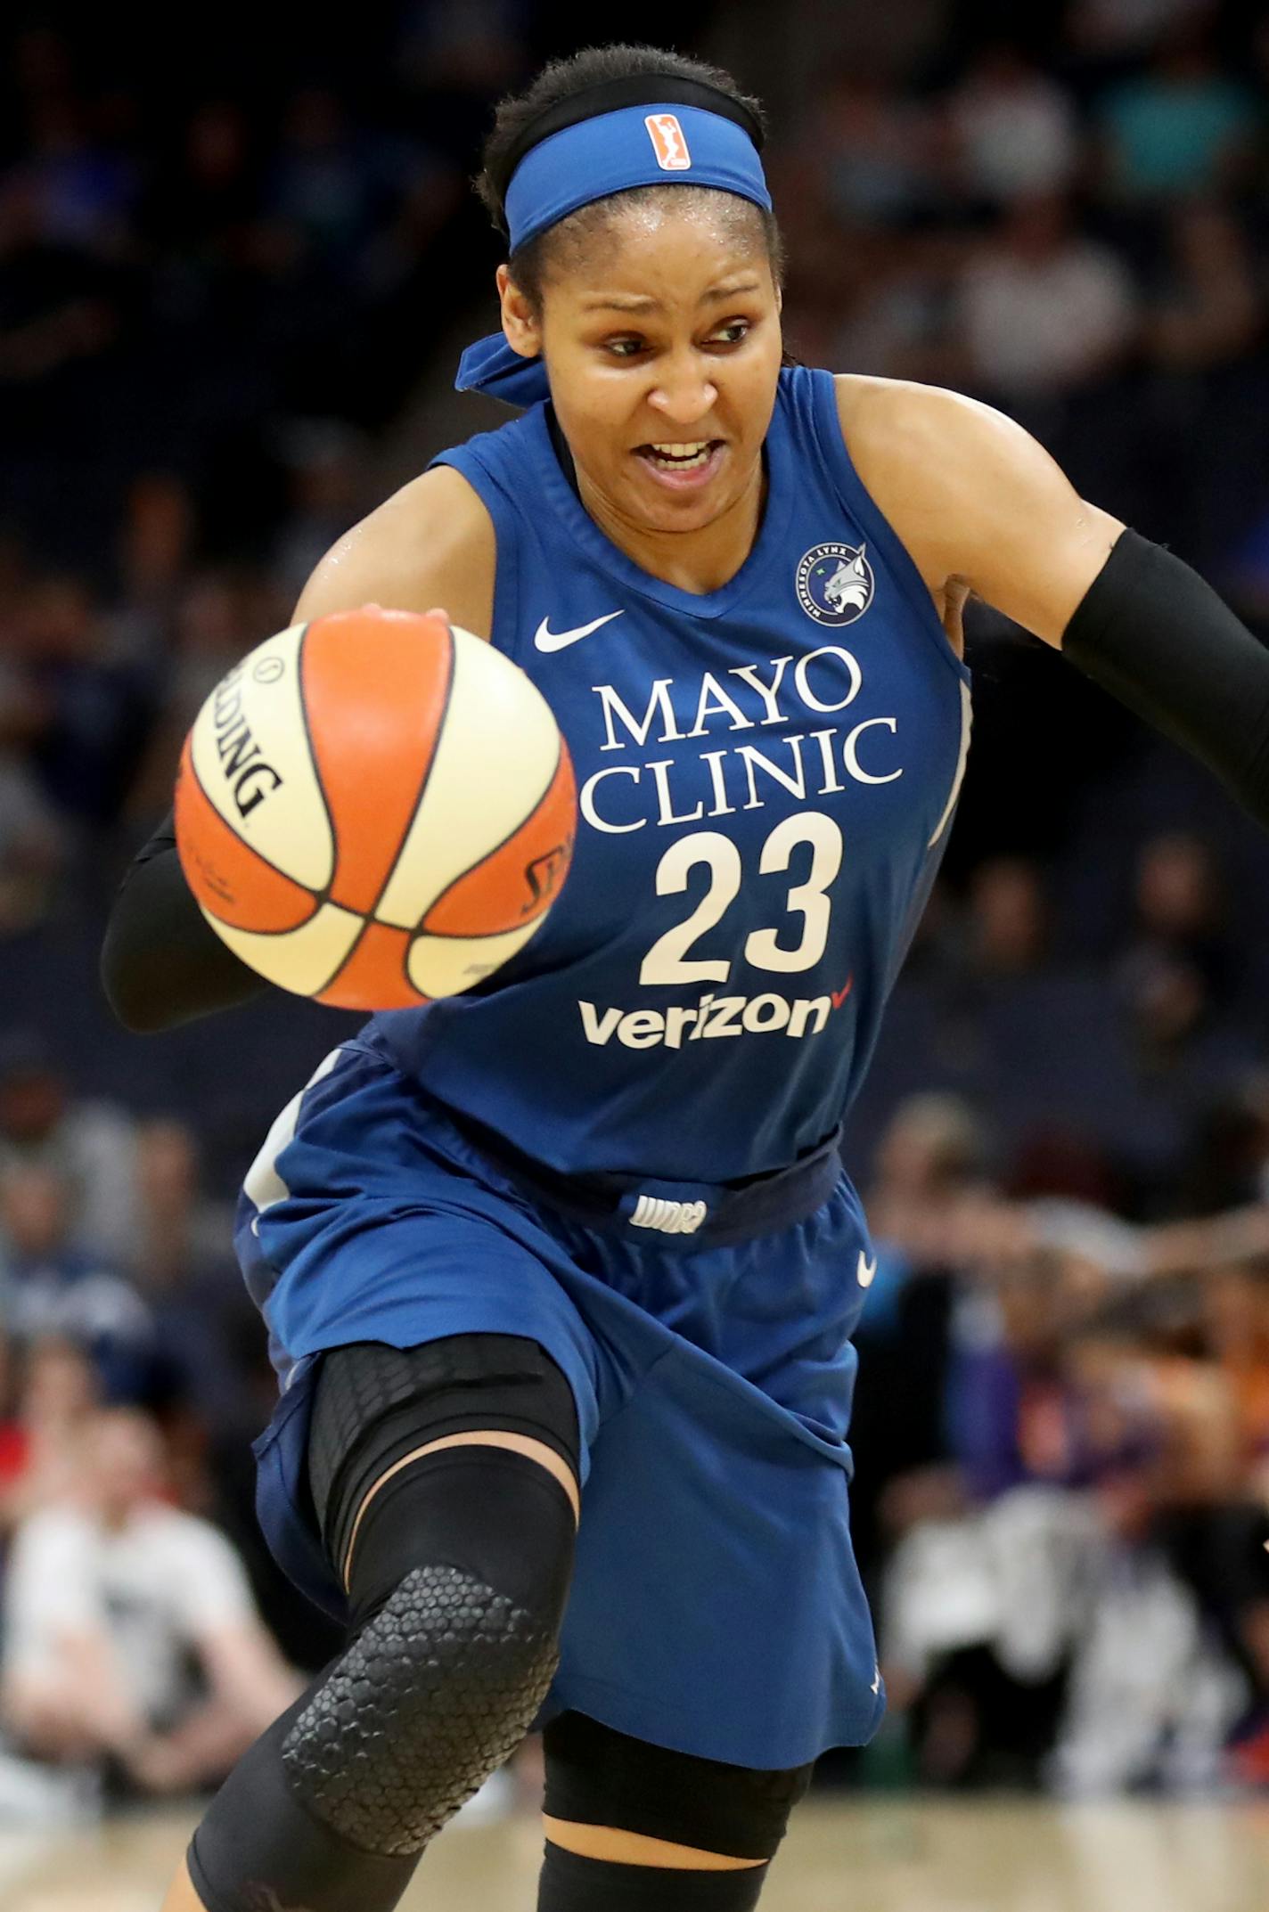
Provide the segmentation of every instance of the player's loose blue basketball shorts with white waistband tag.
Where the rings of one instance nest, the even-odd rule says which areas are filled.
[[[742,1767],[860,1746],[885,1709],[849,1533],[850,1333],[873,1249],[831,1147],[745,1189],[529,1185],[365,1036],[273,1124],[239,1258],[281,1379],[258,1512],[334,1618],[306,1442],[323,1348],[524,1335],[581,1428],[564,1709]]]

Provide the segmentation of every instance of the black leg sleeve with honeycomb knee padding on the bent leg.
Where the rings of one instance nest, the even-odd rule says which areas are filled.
[[[357,1533],[348,1650],[239,1761],[195,1834],[206,1904],[388,1912],[541,1706],[571,1554],[571,1503],[526,1455],[445,1447],[394,1474]]]

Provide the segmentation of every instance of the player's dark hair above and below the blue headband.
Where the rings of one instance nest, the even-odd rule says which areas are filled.
[[[512,94],[503,99],[497,107],[493,128],[485,140],[482,151],[482,168],[474,180],[476,193],[480,201],[499,228],[506,231],[505,216],[505,193],[514,163],[520,157],[518,147],[524,140],[529,124],[547,115],[550,107],[558,107],[577,94],[591,92],[591,88],[604,86],[613,80],[638,80],[648,78],[656,82],[657,78],[686,80],[696,86],[707,86],[715,94],[722,94],[724,99],[736,109],[736,119],[749,119],[757,130],[757,141],[766,132],[766,115],[759,99],[749,94],[742,94],[730,73],[721,67],[711,67],[703,59],[688,59],[684,54],[671,54],[657,46],[587,46],[579,54],[568,59],[552,59],[550,65],[543,67],[531,86],[522,94]],[[648,94],[652,99],[652,92]],[[604,111],[604,107],[596,107]],[[508,164],[510,163],[510,164]],[[556,250],[560,237],[566,241],[581,243],[594,235],[594,229],[612,214],[615,199],[638,203],[657,193],[709,193],[711,197],[721,193],[721,187],[711,185],[633,185],[623,193],[610,193],[604,199],[594,199],[589,206],[581,206],[577,212],[570,212],[568,218],[560,220],[558,226],[550,226],[545,233],[529,239],[527,245],[518,247],[510,254],[510,273],[524,296],[535,310],[541,310],[543,281],[547,277],[548,254]],[[776,224],[774,212],[759,206],[747,199],[740,199],[734,193],[722,193],[724,199],[734,201],[736,214],[740,218],[759,218],[763,228],[763,239],[766,243],[766,254],[770,260],[770,270],[776,285],[784,279],[784,241],[780,237],[780,226]]]

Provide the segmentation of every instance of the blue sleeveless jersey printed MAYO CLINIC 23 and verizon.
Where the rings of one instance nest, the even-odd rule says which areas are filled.
[[[946,845],[969,673],[829,373],[780,373],[764,451],[755,545],[699,597],[594,524],[545,405],[434,459],[493,518],[491,637],[568,740],[577,843],[520,956],[373,1027],[554,1170],[719,1184],[831,1136]]]

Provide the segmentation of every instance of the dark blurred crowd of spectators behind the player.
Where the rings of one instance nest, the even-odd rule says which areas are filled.
[[[214,1782],[336,1644],[254,1526],[273,1377],[227,1216],[348,1025],[126,1036],[97,945],[206,690],[491,423],[449,394],[499,260],[468,178],[493,99],[577,44],[535,0],[157,31],[0,33],[0,1816]],[[766,98],[801,358],[1005,407],[1269,637],[1261,6],[638,33]],[[954,839],[847,1138],[891,1719],[822,1772],[1265,1786],[1269,849],[1003,619],[969,662]]]

